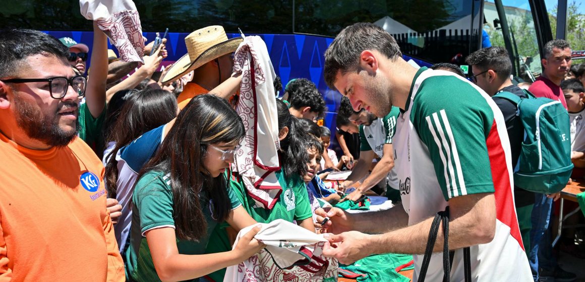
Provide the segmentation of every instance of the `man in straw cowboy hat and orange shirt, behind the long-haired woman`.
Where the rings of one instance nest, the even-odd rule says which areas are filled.
[[[195,70],[192,81],[185,84],[183,92],[177,98],[180,109],[193,97],[209,93],[232,76],[232,54],[242,41],[240,37],[228,40],[222,26],[204,27],[185,37],[188,54],[183,55],[168,69],[162,82],[173,82]],[[229,96],[222,98],[228,99]]]

